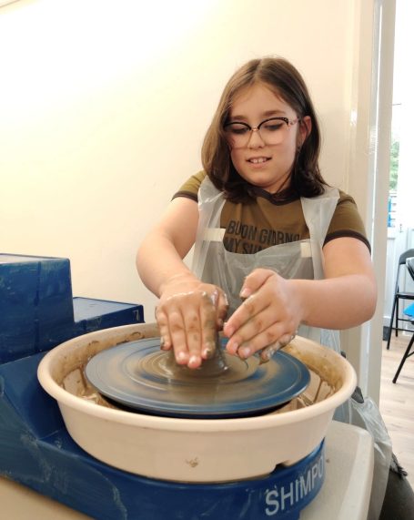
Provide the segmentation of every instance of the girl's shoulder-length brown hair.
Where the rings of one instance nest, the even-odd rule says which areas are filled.
[[[311,131],[297,156],[290,176],[289,189],[300,197],[315,197],[324,191],[327,183],[318,167],[320,131],[318,119],[302,76],[286,59],[264,57],[252,59],[230,77],[221,95],[216,114],[207,130],[201,150],[203,168],[217,189],[227,199],[247,201],[254,199],[254,189],[241,178],[230,158],[224,125],[237,94],[246,87],[263,83],[292,107],[299,119],[311,119]]]

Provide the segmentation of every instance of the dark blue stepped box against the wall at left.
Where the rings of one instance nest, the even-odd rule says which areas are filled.
[[[0,363],[143,321],[142,305],[73,298],[68,259],[0,253]]]

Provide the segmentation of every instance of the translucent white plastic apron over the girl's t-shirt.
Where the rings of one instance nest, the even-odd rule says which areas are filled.
[[[205,178],[198,191],[199,221],[192,270],[200,280],[226,292],[229,315],[241,303],[238,294],[243,280],[258,267],[274,270],[285,279],[321,280],[324,278],[322,246],[338,199],[336,188],[327,188],[313,199],[300,199],[309,229],[308,240],[270,246],[254,254],[240,254],[227,251],[223,244],[225,229],[220,229],[220,215],[225,199],[210,179]],[[338,331],[301,325],[298,334],[340,353]]]

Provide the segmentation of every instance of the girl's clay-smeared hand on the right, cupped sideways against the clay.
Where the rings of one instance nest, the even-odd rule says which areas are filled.
[[[240,291],[244,302],[224,326],[229,338],[227,352],[245,359],[257,351],[262,361],[295,336],[302,317],[301,302],[294,280],[275,271],[253,270]]]

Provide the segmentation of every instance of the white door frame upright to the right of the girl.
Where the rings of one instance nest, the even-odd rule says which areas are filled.
[[[364,393],[379,401],[384,305],[395,2],[358,3],[354,32],[349,192],[359,192],[378,280],[377,311],[369,323],[342,333]]]

